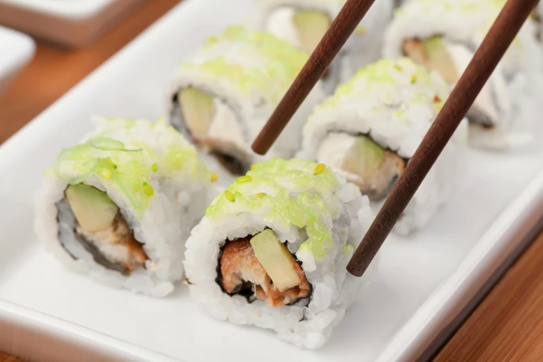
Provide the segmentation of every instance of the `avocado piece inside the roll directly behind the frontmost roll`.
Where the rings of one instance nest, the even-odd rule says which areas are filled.
[[[385,150],[365,136],[356,136],[354,145],[343,162],[343,170],[362,176],[365,180],[379,170]]]

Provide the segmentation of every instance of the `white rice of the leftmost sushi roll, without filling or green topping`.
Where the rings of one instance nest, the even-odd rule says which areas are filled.
[[[83,142],[96,135],[107,134],[107,137],[126,144],[144,143],[160,154],[165,150],[161,145],[184,141],[173,129],[160,125],[153,129],[150,128],[152,123],[148,121],[136,121],[132,127],[128,126],[129,130],[123,120],[111,122],[96,119],[96,123],[96,130],[85,137]],[[117,126],[118,130],[114,130]],[[184,143],[183,146],[191,147],[187,141]],[[119,169],[121,167],[119,164]],[[196,167],[198,169],[198,165]],[[183,276],[184,241],[214,196],[211,182],[205,176],[209,173],[205,169],[195,169],[195,172],[189,172],[189,169],[187,167],[186,171],[173,173],[158,170],[152,173],[148,183],[154,193],[142,215],[113,182],[104,182],[96,175],[81,182],[105,191],[119,207],[135,239],[144,244],[144,252],[148,256],[145,268],[132,270],[128,276],[96,264],[93,255],[76,240],[74,225],[65,218],[59,220],[57,203],[64,199],[68,184],[60,180],[53,170],[46,172],[42,189],[35,201],[35,232],[46,243],[47,250],[72,270],[115,288],[126,288],[153,297],[167,295],[173,291],[174,282]],[[207,180],[202,179],[202,176]],[[60,230],[64,230],[65,235],[71,235],[69,240],[59,240]],[[107,257],[117,256],[114,250],[107,253]]]

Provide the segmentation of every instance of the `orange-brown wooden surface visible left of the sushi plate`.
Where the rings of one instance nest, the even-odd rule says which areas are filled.
[[[38,42],[31,64],[0,94],[0,144],[178,3],[149,0],[85,49]],[[24,361],[0,352],[0,362]]]

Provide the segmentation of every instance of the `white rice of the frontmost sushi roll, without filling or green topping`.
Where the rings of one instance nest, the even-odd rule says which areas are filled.
[[[295,163],[293,169],[298,171],[307,169],[309,164],[308,170],[312,173],[316,166],[311,162],[291,162]],[[191,296],[209,315],[238,325],[273,329],[280,339],[298,347],[315,349],[328,340],[370,274],[368,270],[362,278],[353,277],[345,267],[373,218],[368,198],[361,196],[359,189],[346,182],[343,175],[330,175],[334,175],[336,186],[320,190],[311,184],[307,188],[300,186],[288,175],[274,170],[269,176],[275,182],[259,182],[253,177],[250,183],[254,185],[240,191],[249,197],[263,190],[266,190],[266,197],[272,198],[286,193],[291,200],[300,193],[320,193],[326,209],[336,210],[331,217],[327,212],[320,214],[333,241],[326,249],[325,257],[313,255],[310,248],[300,248],[308,239],[305,227],[293,225],[292,221],[278,216],[268,207],[236,205],[237,196],[236,201],[226,205],[220,213],[202,218],[187,241],[185,269]],[[218,257],[225,241],[254,235],[267,227],[280,241],[288,243],[288,249],[302,262],[304,273],[313,286],[307,307],[283,305],[274,308],[262,300],[249,303],[241,295],[227,295],[216,282]],[[375,261],[372,266],[374,264]]]

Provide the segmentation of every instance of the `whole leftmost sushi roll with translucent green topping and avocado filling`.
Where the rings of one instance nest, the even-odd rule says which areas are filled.
[[[35,230],[68,266],[155,297],[183,276],[184,242],[215,175],[164,121],[97,119],[46,171]]]

